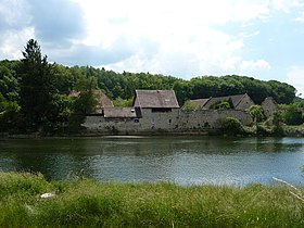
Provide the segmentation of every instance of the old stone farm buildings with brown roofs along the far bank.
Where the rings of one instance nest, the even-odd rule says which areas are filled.
[[[103,100],[109,99],[103,94]],[[223,101],[229,101],[232,109],[212,109]],[[218,119],[227,116],[238,118],[245,126],[253,124],[248,110],[254,102],[246,93],[190,102],[194,109],[186,111],[179,107],[174,90],[136,90],[131,107],[99,105],[94,113],[87,114],[83,126],[89,134],[131,135],[205,132],[218,128]],[[267,98],[263,109],[266,115],[270,115],[277,104],[271,98]]]

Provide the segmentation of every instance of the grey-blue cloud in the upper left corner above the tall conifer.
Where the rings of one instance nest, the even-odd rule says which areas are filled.
[[[74,39],[84,38],[80,7],[71,0],[2,0],[0,4],[0,56],[21,59],[30,38],[42,50],[69,49]]]

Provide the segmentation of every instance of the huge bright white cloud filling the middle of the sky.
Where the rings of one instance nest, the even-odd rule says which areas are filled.
[[[240,68],[243,39],[257,36],[258,31],[233,37],[214,25],[243,25],[269,14],[263,0],[75,1],[83,7],[87,21],[84,45],[111,49],[117,39],[124,39],[132,50],[125,60],[105,67],[179,77],[233,73]],[[153,43],[153,49],[142,40]]]

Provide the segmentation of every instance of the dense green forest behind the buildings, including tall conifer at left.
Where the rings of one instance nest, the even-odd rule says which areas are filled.
[[[266,97],[281,104],[296,99],[296,90],[291,85],[246,76],[201,76],[185,80],[160,74],[63,66],[49,63],[34,39],[26,43],[23,56],[22,60],[0,61],[1,131],[53,131],[65,123],[77,126],[81,122],[79,116],[94,105],[94,89],[103,90],[116,105],[130,105],[136,89],[174,89],[180,105],[190,99],[245,92],[257,104]],[[80,91],[80,96],[69,98],[71,90]]]

